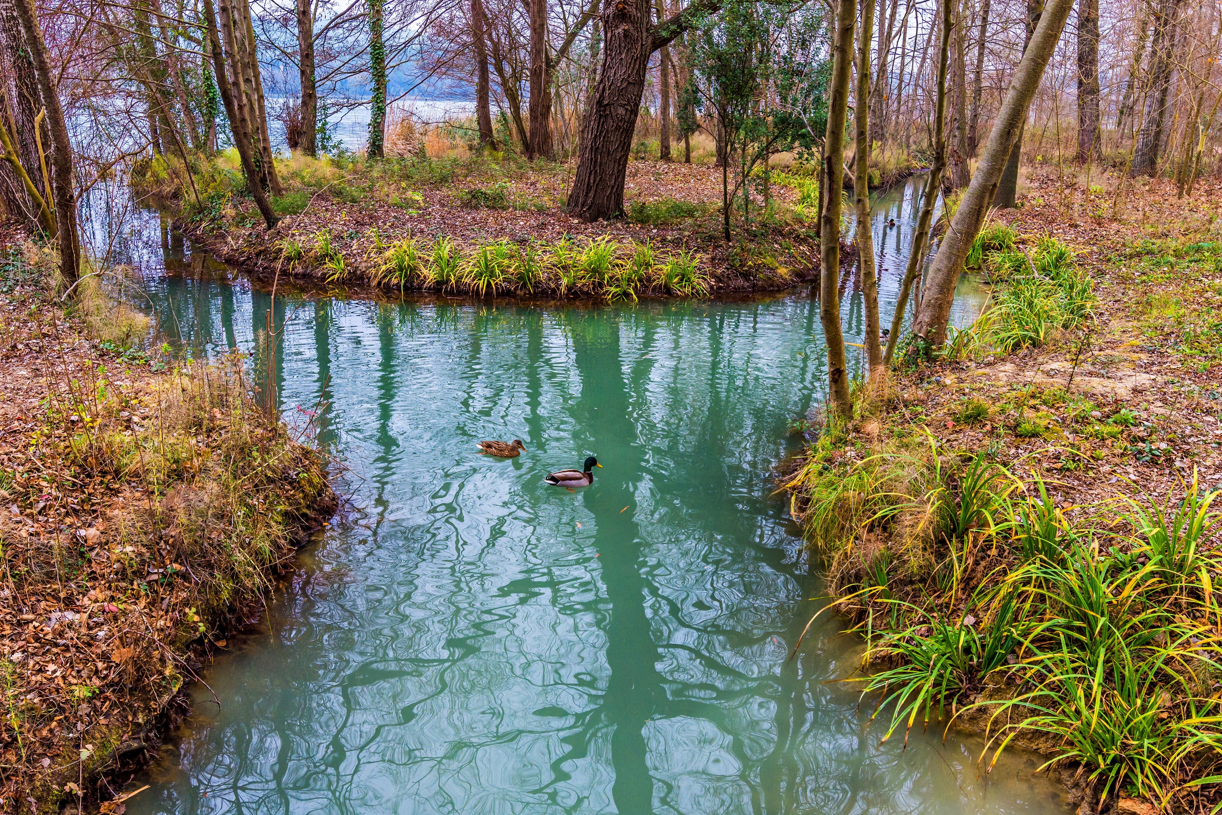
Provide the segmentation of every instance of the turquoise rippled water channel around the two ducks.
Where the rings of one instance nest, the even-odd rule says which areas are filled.
[[[880,206],[885,318],[913,189]],[[197,356],[258,347],[266,285],[141,217],[116,254],[160,330]],[[968,321],[984,294],[963,294]],[[844,318],[859,342],[852,280]],[[979,739],[879,745],[873,701],[837,682],[860,657],[842,621],[788,660],[822,605],[772,495],[789,419],[822,397],[809,290],[562,307],[281,281],[275,320],[285,414],[323,406],[357,510],[192,688],[131,815],[1068,811],[1034,756],[986,777]],[[591,488],[544,485],[588,455]]]

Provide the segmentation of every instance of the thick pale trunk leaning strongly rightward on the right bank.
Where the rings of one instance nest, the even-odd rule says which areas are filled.
[[[963,261],[989,214],[989,205],[997,192],[1006,161],[1015,149],[1031,98],[1040,86],[1044,68],[1052,57],[1072,9],[1073,0],[1050,0],[1040,16],[1040,24],[1023,53],[1023,61],[1019,62],[1009,90],[1006,92],[1006,100],[997,111],[997,121],[980,156],[980,165],[934,258],[913,326],[913,332],[923,337],[930,349],[941,346],[946,338],[946,325],[954,301],[954,287],[963,272]]]

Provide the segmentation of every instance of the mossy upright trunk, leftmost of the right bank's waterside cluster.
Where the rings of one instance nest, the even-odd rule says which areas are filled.
[[[848,360],[840,319],[840,219],[855,5],[854,0],[838,0],[836,4],[832,75],[827,83],[827,131],[824,134],[824,213],[819,226],[819,321],[827,343],[829,409],[844,422],[853,418],[853,403],[848,393]]]

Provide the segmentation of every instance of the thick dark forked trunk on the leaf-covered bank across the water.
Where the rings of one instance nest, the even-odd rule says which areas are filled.
[[[697,0],[656,27],[650,26],[649,0],[623,0],[604,13],[602,71],[582,122],[577,172],[568,193],[569,215],[596,221],[623,211],[623,180],[649,55],[717,7],[717,0]]]

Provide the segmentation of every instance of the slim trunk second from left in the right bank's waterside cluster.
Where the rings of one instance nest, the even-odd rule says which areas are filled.
[[[896,4],[891,5],[895,22]],[[874,225],[870,222],[870,40],[874,39],[874,0],[862,2],[862,31],[857,38],[857,99],[853,103],[853,126],[857,139],[853,198],[857,204],[857,261],[862,270],[862,293],[865,298],[865,358],[870,379],[882,376],[882,346],[879,342],[879,279],[874,268]],[[885,79],[879,68],[876,83]]]

